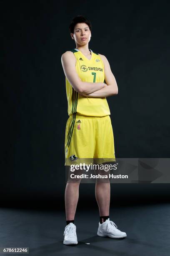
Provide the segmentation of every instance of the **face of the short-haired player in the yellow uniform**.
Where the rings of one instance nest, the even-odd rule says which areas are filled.
[[[77,23],[74,28],[74,34],[71,33],[71,37],[77,45],[88,44],[91,37],[89,26],[86,23]]]

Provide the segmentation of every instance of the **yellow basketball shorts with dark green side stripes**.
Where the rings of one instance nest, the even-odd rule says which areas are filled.
[[[70,115],[65,129],[65,165],[115,161],[110,115]],[[93,161],[94,162],[94,161]]]

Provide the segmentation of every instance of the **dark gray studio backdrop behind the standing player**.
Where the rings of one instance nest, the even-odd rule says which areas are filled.
[[[89,48],[107,57],[117,81],[118,95],[107,97],[116,157],[170,157],[168,1],[3,2],[1,206],[64,207],[61,55],[75,47],[68,27],[78,14],[91,20]],[[170,195],[169,184],[111,187],[123,205]],[[80,184],[79,206],[95,201],[94,188]]]

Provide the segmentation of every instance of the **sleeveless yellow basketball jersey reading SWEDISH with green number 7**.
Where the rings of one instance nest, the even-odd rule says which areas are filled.
[[[76,57],[76,72],[83,82],[105,82],[104,64],[100,55],[91,49],[91,59],[87,59],[78,49],[71,50]],[[66,79],[68,115],[86,115],[102,117],[110,115],[106,97],[85,97],[76,92]]]

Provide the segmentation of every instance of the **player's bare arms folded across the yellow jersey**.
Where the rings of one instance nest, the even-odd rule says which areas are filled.
[[[96,90],[96,83],[81,81],[75,71],[76,60],[74,54],[70,51],[66,51],[62,54],[61,61],[65,76],[70,84],[72,84],[75,91],[84,97],[108,97],[118,93],[117,83],[107,58],[102,54],[100,54],[100,57],[104,63],[106,84],[98,82]]]

